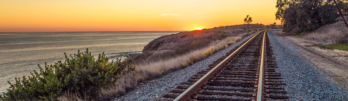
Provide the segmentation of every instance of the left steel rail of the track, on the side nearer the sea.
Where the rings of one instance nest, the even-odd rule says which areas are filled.
[[[265,31],[265,30],[262,30]],[[201,79],[199,79],[196,83],[190,86],[187,90],[181,93],[178,97],[176,97],[173,101],[186,101],[191,99],[191,95],[197,93],[200,87],[208,82],[208,80],[218,72],[223,65],[225,65],[232,57],[234,57],[241,49],[243,49],[248,43],[251,42],[257,35],[259,35],[262,31],[255,34],[252,38],[250,38],[247,42],[245,42],[242,46],[240,46],[235,52],[229,55],[226,59],[224,59],[221,63],[216,65],[211,71],[205,74]]]

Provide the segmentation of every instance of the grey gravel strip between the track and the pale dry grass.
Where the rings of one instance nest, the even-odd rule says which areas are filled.
[[[183,68],[179,71],[168,73],[167,75],[157,79],[140,83],[133,91],[130,91],[113,101],[157,101],[161,99],[163,95],[170,93],[170,91],[176,88],[176,86],[180,85],[180,83],[189,80],[190,77],[195,75],[197,72],[206,70],[209,64],[212,64],[220,57],[226,55],[227,52],[243,43],[252,35],[254,34],[243,38],[237,43],[231,44],[228,48],[220,50],[219,52],[214,53],[212,56],[192,64],[191,66]]]

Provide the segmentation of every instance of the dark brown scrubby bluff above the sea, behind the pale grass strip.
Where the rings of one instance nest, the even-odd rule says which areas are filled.
[[[264,29],[279,29],[279,26],[249,25],[250,33],[257,33]],[[234,25],[161,36],[146,45],[142,54],[134,55],[131,58],[133,59],[133,63],[170,59],[187,54],[193,50],[211,46],[210,44],[226,37],[238,36],[243,38],[249,35],[246,32],[247,25]]]

